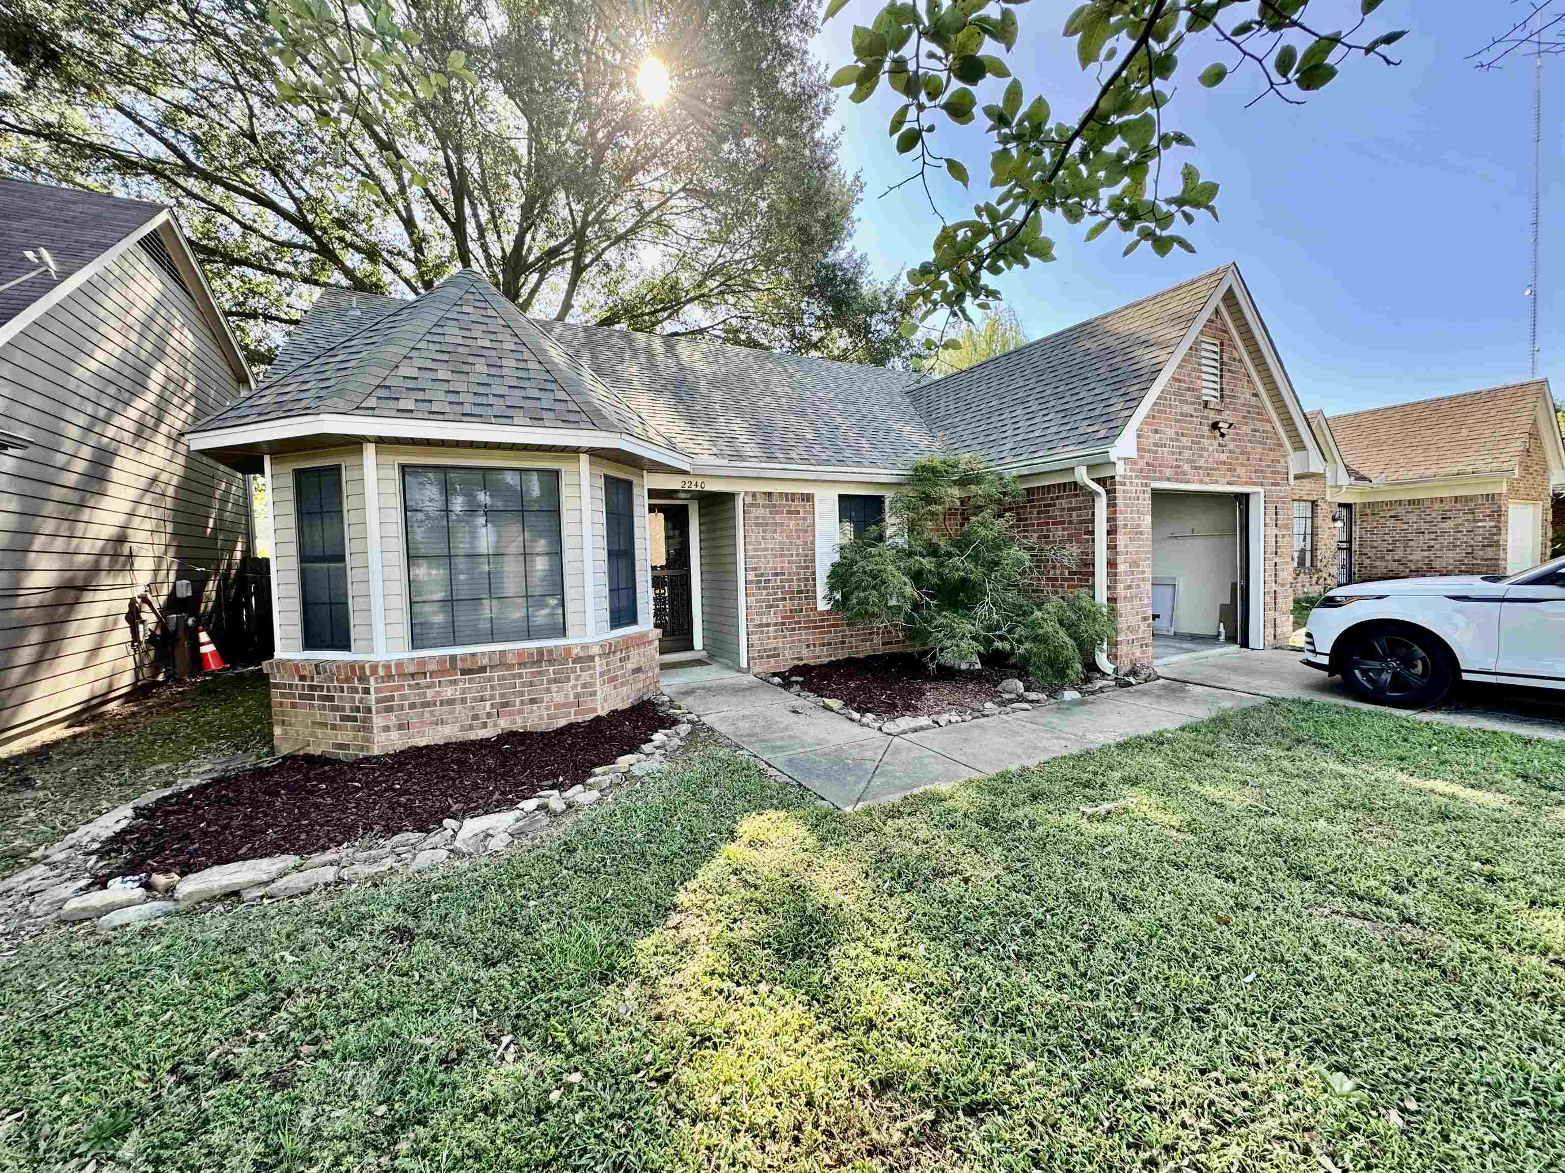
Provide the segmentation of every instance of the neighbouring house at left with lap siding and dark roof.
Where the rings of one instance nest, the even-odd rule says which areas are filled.
[[[28,256],[27,253],[31,253]],[[243,477],[182,438],[250,374],[167,208],[0,180],[0,741],[131,688],[125,610],[216,590]]]

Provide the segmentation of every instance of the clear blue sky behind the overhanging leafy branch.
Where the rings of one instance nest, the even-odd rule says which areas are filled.
[[[1092,88],[1060,36],[1075,2],[1017,9],[1024,36],[1011,70],[1028,99],[1049,97],[1056,119],[1074,119]],[[1194,74],[1211,50],[1182,59],[1169,124],[1196,139],[1185,156],[1202,177],[1222,185],[1221,224],[1202,216],[1188,233],[1196,255],[1163,260],[1146,247],[1121,258],[1117,231],[1086,244],[1089,224],[1045,224],[1060,260],[1000,282],[1028,336],[1236,261],[1310,408],[1352,411],[1524,378],[1532,64],[1516,56],[1479,74],[1463,59],[1504,31],[1513,8],[1387,0],[1373,20],[1412,30],[1394,48],[1402,64],[1355,56],[1304,108],[1266,100],[1244,109],[1252,78],[1207,91]],[[853,25],[878,9],[851,0],[817,36],[817,55],[831,67],[851,61]],[[1311,23],[1341,28],[1357,9],[1358,0],[1316,0]],[[986,83],[980,103],[998,100],[1000,84]],[[886,136],[895,95],[883,86],[854,106],[839,94],[844,164],[865,181],[858,247],[883,275],[900,272],[928,255],[937,221],[917,183],[880,199],[908,174]],[[1565,396],[1565,58],[1545,66],[1543,103],[1542,372],[1560,372]],[[978,199],[989,174],[981,122],[939,130]],[[947,216],[973,202],[944,177],[931,177],[931,189]]]

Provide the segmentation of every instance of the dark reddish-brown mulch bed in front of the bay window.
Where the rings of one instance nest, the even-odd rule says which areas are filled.
[[[110,838],[100,877],[182,876],[264,856],[310,856],[365,837],[429,830],[573,785],[673,721],[654,701],[549,732],[413,746],[340,762],[294,754],[152,802]]]

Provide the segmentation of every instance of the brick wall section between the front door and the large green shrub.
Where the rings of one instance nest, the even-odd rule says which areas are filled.
[[[818,610],[814,493],[745,493],[745,627],[751,671],[903,646],[894,632]]]

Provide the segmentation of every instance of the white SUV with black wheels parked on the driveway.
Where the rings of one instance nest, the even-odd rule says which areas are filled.
[[[1565,690],[1565,558],[1531,571],[1355,582],[1321,596],[1304,663],[1365,701],[1423,708],[1452,680]]]

